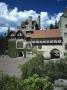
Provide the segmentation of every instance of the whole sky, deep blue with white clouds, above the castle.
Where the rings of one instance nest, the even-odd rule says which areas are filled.
[[[59,21],[67,0],[0,0],[0,32],[15,29],[29,16],[41,16],[41,28]]]

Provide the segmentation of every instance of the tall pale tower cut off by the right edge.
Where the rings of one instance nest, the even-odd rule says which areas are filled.
[[[63,37],[63,52],[67,54],[67,8],[65,8],[63,15],[60,17],[59,28]]]

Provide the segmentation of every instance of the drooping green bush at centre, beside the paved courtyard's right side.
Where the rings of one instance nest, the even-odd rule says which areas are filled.
[[[42,55],[37,55],[33,57],[31,60],[26,62],[24,65],[20,65],[22,71],[22,78],[27,78],[28,76],[32,76],[33,74],[39,74],[42,76],[42,70],[44,68],[44,58]]]

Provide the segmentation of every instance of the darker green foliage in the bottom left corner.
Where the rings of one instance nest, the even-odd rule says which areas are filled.
[[[0,90],[18,90],[17,78],[3,75],[0,77]]]

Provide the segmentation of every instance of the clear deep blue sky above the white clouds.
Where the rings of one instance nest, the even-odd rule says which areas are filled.
[[[19,10],[35,10],[58,13],[67,7],[67,0],[0,0],[8,4],[9,8],[18,7]]]

